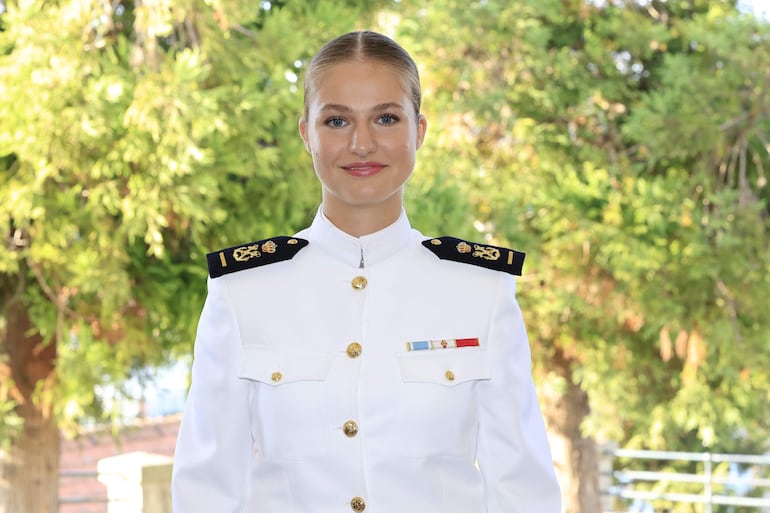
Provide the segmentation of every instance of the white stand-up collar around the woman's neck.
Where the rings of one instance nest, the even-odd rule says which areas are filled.
[[[401,209],[398,219],[382,230],[362,237],[354,237],[337,228],[318,209],[313,224],[306,231],[311,246],[320,247],[326,253],[358,268],[363,255],[364,265],[369,267],[392,256],[411,241],[412,226]]]

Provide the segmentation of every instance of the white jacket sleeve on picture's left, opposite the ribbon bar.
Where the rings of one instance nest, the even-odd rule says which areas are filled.
[[[251,460],[248,385],[226,279],[209,279],[171,482],[174,513],[240,513]]]

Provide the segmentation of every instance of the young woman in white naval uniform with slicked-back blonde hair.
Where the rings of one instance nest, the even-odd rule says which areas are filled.
[[[420,83],[391,39],[327,43],[299,132],[312,225],[211,253],[176,513],[559,513],[513,275],[404,212]]]

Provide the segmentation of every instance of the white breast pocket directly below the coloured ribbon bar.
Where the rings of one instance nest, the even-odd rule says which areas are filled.
[[[470,348],[401,353],[399,429],[405,455],[473,454],[477,384],[490,379],[486,351]]]

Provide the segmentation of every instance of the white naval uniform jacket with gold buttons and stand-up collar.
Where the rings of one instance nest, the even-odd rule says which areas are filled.
[[[209,279],[173,511],[559,513],[513,276],[440,260],[403,213],[356,238],[319,210],[297,237]]]

